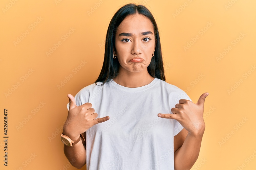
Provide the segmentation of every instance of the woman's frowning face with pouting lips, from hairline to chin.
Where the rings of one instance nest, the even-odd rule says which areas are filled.
[[[113,49],[113,54],[117,56],[120,69],[140,72],[150,64],[155,44],[154,28],[150,19],[140,14],[129,15],[116,30],[116,51]],[[135,57],[140,59],[132,60]]]

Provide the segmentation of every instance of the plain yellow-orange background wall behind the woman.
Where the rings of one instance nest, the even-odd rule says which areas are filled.
[[[148,7],[158,24],[166,81],[183,90],[190,88],[186,93],[194,103],[201,94],[209,93],[204,104],[206,129],[199,157],[191,169],[238,169],[239,166],[255,169],[256,71],[252,66],[256,63],[256,2],[99,2],[1,0],[0,168],[59,170],[69,167],[61,132],[57,131],[67,118],[67,94],[75,96],[97,79],[109,22],[122,5],[135,2]],[[100,5],[96,7],[95,3]],[[93,7],[96,9],[89,15]],[[208,23],[212,25],[207,28]],[[201,29],[205,29],[203,34]],[[26,31],[28,34],[22,37]],[[72,33],[68,34],[69,31]],[[65,41],[64,34],[69,35]],[[15,44],[18,37],[23,40]],[[190,42],[195,37],[199,37],[197,41]],[[46,52],[58,41],[61,44],[47,56]],[[185,50],[187,43],[192,45]],[[217,60],[220,53],[225,54],[225,49],[228,53]],[[78,67],[81,60],[86,64]],[[74,72],[75,68],[80,70]],[[31,73],[29,69],[34,71]],[[58,88],[70,74],[70,80]],[[26,80],[20,78],[22,76],[27,76]],[[228,93],[231,86],[234,90]],[[11,89],[12,94],[6,97],[5,93]],[[40,102],[45,103],[41,108]],[[33,115],[31,111],[36,108],[38,111]],[[8,167],[3,165],[4,109],[8,110]],[[242,121],[243,118],[248,120]],[[26,119],[29,120],[17,129]],[[56,137],[50,140],[54,133]],[[31,154],[36,156],[26,164]]]

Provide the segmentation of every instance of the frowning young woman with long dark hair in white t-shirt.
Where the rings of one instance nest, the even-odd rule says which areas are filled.
[[[87,170],[190,169],[205,130],[207,95],[195,104],[165,82],[156,21],[145,6],[126,4],[110,21],[98,79],[68,94],[64,153]]]

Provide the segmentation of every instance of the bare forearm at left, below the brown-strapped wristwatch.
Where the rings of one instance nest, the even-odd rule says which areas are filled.
[[[64,131],[63,131],[64,133]],[[71,135],[70,135],[71,137]],[[72,137],[73,139],[77,139],[78,137]],[[74,146],[66,146],[64,145],[64,154],[67,159],[70,161],[70,164],[78,169],[82,168],[86,164],[86,149],[83,145],[82,140]]]

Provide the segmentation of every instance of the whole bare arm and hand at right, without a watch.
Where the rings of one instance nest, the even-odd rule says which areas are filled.
[[[158,114],[162,118],[175,119],[184,127],[180,133],[174,136],[175,170],[189,170],[198,158],[205,131],[204,102],[208,95],[209,93],[202,94],[197,103],[180,99],[175,108],[171,109],[173,114]]]

